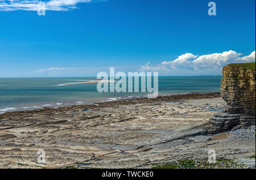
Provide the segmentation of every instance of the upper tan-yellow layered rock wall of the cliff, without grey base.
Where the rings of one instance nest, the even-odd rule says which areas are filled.
[[[255,116],[255,70],[227,65],[222,74],[221,96],[228,112]]]

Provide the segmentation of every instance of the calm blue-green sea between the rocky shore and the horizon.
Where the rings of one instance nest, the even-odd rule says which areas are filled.
[[[220,76],[215,77],[159,77],[159,94],[208,93],[220,91]],[[63,85],[86,82],[96,78],[0,78],[0,114],[6,111],[29,110],[113,101],[133,98],[147,93],[98,93],[97,83]]]

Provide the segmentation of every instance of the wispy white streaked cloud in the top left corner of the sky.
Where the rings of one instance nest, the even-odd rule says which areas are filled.
[[[107,0],[0,0],[0,11],[38,11],[45,3],[48,11],[69,11],[77,9],[78,3],[102,2]]]

